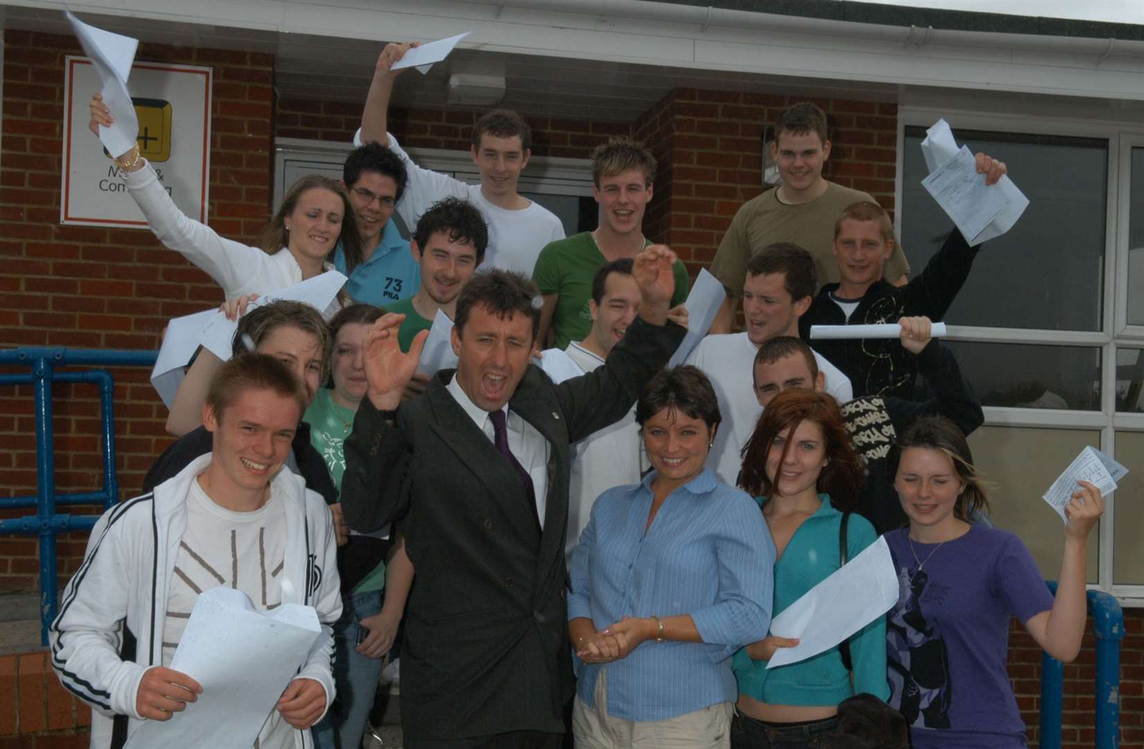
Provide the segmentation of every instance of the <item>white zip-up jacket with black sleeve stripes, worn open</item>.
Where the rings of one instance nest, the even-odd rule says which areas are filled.
[[[135,708],[136,691],[143,672],[162,664],[167,595],[186,528],[186,496],[209,462],[209,453],[201,455],[151,494],[108,510],[92,528],[84,564],[64,590],[50,630],[51,668],[66,690],[94,708],[92,749],[111,746],[116,715],[130,717],[128,735],[144,719]],[[313,606],[323,631],[295,678],[321,684],[328,709],[334,699],[331,627],[342,611],[329,510],[289,470],[280,470],[272,486],[286,513],[283,575],[294,582],[289,597],[283,587],[283,603]],[[124,622],[137,642],[134,662],[119,656]],[[294,746],[310,749],[310,731],[295,731]]]

